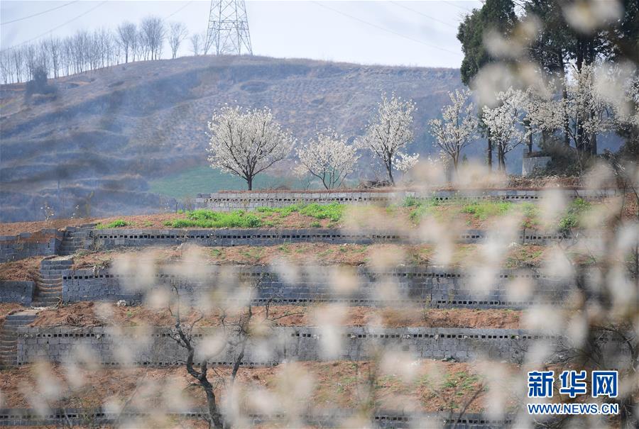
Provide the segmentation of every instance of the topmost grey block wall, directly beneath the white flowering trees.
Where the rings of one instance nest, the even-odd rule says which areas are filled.
[[[567,199],[581,196],[586,199],[599,199],[614,194],[612,190],[591,191],[587,189],[559,190]],[[542,191],[537,189],[481,189],[463,191],[247,191],[215,192],[197,194],[196,208],[209,208],[214,211],[253,210],[257,207],[283,207],[290,204],[397,204],[406,197],[437,201],[538,201]]]

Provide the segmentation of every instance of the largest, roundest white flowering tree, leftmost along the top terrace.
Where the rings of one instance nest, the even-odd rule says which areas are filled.
[[[295,144],[290,133],[273,121],[268,108],[224,106],[208,128],[211,167],[246,180],[249,190],[256,175],[283,160]]]

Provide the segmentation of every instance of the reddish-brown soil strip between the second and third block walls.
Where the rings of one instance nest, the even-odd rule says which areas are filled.
[[[155,262],[178,261],[187,247],[149,247],[146,250],[119,249],[117,252],[94,252],[74,257],[74,267],[109,267],[119,257],[141,258]],[[481,245],[457,245],[454,249],[452,266],[477,262]],[[538,265],[542,262],[547,247],[521,245],[511,247],[504,260],[506,267]],[[292,243],[275,246],[234,246],[202,248],[202,260],[214,264],[266,265],[288,261],[292,264],[320,265],[366,265],[387,260],[397,264],[432,264],[435,247],[432,245],[331,245],[327,243]],[[437,262],[437,261],[435,261]],[[1,266],[1,264],[0,264]]]

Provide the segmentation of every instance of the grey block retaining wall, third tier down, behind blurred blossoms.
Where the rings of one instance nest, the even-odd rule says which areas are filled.
[[[437,267],[401,267],[388,272],[373,272],[364,267],[349,268],[356,276],[359,289],[349,294],[334,290],[335,267],[299,267],[295,278],[278,274],[276,267],[209,267],[207,279],[229,278],[235,284],[253,284],[260,279],[253,303],[323,303],[345,302],[359,306],[405,305],[419,303],[432,308],[527,308],[533,303],[561,305],[573,290],[557,279],[542,274],[504,270],[488,288],[488,294],[474,293],[476,277],[456,270]],[[225,277],[232,273],[234,277]],[[530,279],[533,294],[526,299],[513,299],[508,294],[512,281]],[[176,281],[177,280],[177,281]],[[216,282],[187,281],[170,270],[155,274],[155,289],[170,289],[178,284],[180,299],[197,303],[201,296],[210,295]],[[62,272],[62,301],[143,301],[143,293],[131,290],[133,278],[117,274],[112,269],[77,269]],[[228,282],[227,282],[228,283]],[[392,298],[388,285],[394,285]],[[481,286],[485,286],[482,284]],[[386,292],[384,292],[386,290]],[[233,295],[230,296],[233,299]]]

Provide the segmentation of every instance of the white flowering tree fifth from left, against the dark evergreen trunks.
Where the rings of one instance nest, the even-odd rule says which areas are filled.
[[[482,120],[497,147],[499,169],[506,171],[506,154],[528,138],[530,128],[524,126],[527,96],[512,87],[496,94],[496,107],[484,106]]]

